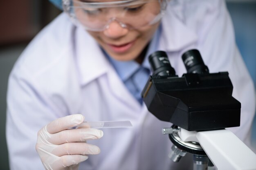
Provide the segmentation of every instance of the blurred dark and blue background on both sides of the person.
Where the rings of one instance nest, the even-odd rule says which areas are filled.
[[[236,43],[256,87],[256,0],[226,0]],[[29,41],[59,13],[48,0],[0,1],[0,170],[9,170],[5,139],[6,91],[13,64]],[[256,118],[252,130],[256,148]]]

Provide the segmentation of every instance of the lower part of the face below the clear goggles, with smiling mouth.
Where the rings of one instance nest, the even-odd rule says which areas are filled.
[[[122,28],[117,22],[112,22],[109,28],[101,32],[88,31],[100,46],[119,61],[136,60],[153,37],[159,24],[154,24],[139,30]]]

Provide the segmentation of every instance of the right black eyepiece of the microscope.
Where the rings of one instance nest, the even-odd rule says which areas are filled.
[[[204,61],[198,50],[189,50],[185,52],[182,55],[182,60],[188,73],[209,73],[209,69],[204,65]]]

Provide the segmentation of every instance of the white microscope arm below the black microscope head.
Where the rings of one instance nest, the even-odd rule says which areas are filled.
[[[194,135],[218,170],[256,170],[256,154],[231,131],[201,131]]]

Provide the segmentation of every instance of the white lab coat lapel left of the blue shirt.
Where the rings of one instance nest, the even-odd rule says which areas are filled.
[[[131,114],[141,110],[141,105],[129,93],[121,79],[118,78],[115,68],[104,55],[100,46],[82,28],[76,28],[74,48],[74,52],[77,52],[75,57],[79,68],[81,87],[88,85],[97,78],[106,76],[108,77],[108,81],[105,82],[106,86],[109,83],[110,87],[108,90],[120,101],[123,101],[125,106],[132,108]],[[124,98],[124,96],[126,97]]]

